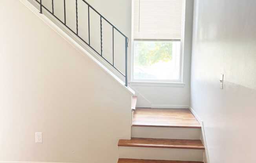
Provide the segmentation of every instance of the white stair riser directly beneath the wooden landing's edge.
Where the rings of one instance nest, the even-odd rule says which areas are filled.
[[[201,129],[132,126],[132,138],[200,139]]]

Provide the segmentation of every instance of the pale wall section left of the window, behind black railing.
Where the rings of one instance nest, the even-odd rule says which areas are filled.
[[[38,3],[35,0],[29,0],[35,7],[39,9]],[[117,29],[119,29],[128,38],[131,38],[131,2],[130,1],[120,1],[120,0],[86,0],[92,7],[94,7],[99,13],[102,14],[107,20],[109,20]],[[52,11],[52,1],[42,0],[42,4]],[[88,34],[88,5],[82,0],[77,1],[78,5],[78,34],[83,40],[89,43]],[[44,8],[43,8],[44,11]],[[57,24],[63,31],[65,31],[69,36],[71,36],[69,30],[66,30],[59,21],[51,18],[47,11],[43,12],[48,18],[50,18],[55,24]],[[64,22],[64,1],[55,0],[54,1],[54,14],[62,22]],[[90,44],[91,46],[101,54],[101,26],[100,26],[100,16],[93,9],[90,8]],[[76,4],[75,0],[66,0],[66,25],[76,33]],[[109,69],[113,71],[117,76],[119,76],[123,81],[124,77],[119,74],[118,71],[113,69],[110,64],[99,57],[99,54],[95,53],[88,47],[85,43],[81,42],[80,39],[73,37],[84,49],[91,51],[91,54],[95,54],[95,58],[105,65],[109,66]],[[113,63],[112,57],[112,26],[108,24],[102,18],[102,56],[108,60],[108,62]],[[130,43],[128,47],[128,56],[130,56]],[[114,29],[114,65],[119,71],[125,74],[125,38],[118,31]],[[130,62],[130,58],[129,58]]]

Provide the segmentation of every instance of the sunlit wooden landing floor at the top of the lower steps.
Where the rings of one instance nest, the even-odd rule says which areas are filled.
[[[133,126],[201,128],[189,109],[136,108]]]

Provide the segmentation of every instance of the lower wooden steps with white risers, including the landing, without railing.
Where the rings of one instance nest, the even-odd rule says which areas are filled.
[[[202,163],[201,126],[188,109],[137,108],[118,163]],[[175,160],[175,161],[173,161]]]

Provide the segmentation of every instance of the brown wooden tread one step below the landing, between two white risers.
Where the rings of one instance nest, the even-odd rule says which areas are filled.
[[[201,140],[187,139],[153,139],[132,138],[120,139],[118,146],[125,147],[152,147],[152,148],[176,148],[176,149],[205,149]]]

